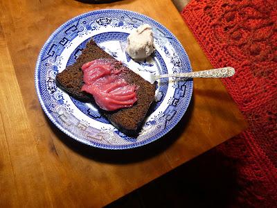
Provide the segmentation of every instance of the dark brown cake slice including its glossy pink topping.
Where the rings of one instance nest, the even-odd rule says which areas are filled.
[[[140,132],[156,89],[93,40],[73,65],[57,74],[56,83],[74,98],[96,103],[100,112],[129,136]]]

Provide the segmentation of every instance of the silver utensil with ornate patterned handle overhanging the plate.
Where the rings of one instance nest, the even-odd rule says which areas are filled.
[[[172,74],[159,74],[154,75],[148,71],[134,71],[139,73],[139,75],[148,80],[151,84],[153,84],[156,80],[160,78],[226,78],[233,76],[235,74],[235,69],[233,67],[224,67],[218,69],[208,69],[204,71],[193,71],[187,73],[172,73]]]

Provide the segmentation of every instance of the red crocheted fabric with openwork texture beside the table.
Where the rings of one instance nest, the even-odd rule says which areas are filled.
[[[234,205],[277,207],[277,1],[193,0],[181,12],[249,129],[217,146],[233,160],[240,183]]]

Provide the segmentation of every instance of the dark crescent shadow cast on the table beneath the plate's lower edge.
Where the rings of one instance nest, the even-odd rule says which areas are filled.
[[[64,134],[64,132],[56,128],[56,126],[48,119],[47,116],[46,119],[55,135],[57,135],[57,137],[64,144],[66,144],[66,146],[71,148],[71,150],[75,151],[76,153],[100,162],[126,164],[131,162],[139,162],[150,157],[154,157],[155,155],[159,155],[163,153],[164,150],[169,148],[170,145],[172,145],[181,135],[181,133],[184,132],[184,130],[186,129],[187,123],[191,117],[193,105],[194,97],[192,96],[190,105],[188,106],[186,113],[179,121],[179,123],[177,123],[175,128],[170,130],[168,134],[164,135],[157,141],[154,141],[145,146],[127,150],[105,150],[87,146]]]

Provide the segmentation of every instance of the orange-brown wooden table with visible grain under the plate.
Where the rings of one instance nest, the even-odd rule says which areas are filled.
[[[73,0],[1,1],[0,207],[102,207],[247,127],[220,80],[195,79],[193,100],[184,118],[148,146],[100,150],[57,130],[37,100],[37,55],[58,26],[101,8],[152,17],[177,36],[194,69],[211,68],[170,0],[102,5]]]

